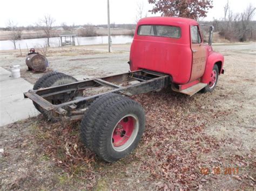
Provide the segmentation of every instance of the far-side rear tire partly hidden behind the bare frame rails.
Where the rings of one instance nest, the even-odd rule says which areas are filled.
[[[47,75],[47,76],[46,76]],[[77,82],[77,80],[69,75],[63,74],[63,73],[51,73],[51,74],[46,74],[46,77],[41,78],[41,82],[38,82],[35,84],[35,88],[40,89],[40,88],[48,88],[48,87],[54,87],[54,86],[60,86],[63,84],[67,83],[72,83],[72,82]],[[40,79],[39,79],[40,80]],[[38,80],[38,81],[39,81]],[[37,85],[37,86],[36,86]],[[49,100],[51,103],[63,103],[65,100]],[[36,109],[41,112],[46,118],[51,119],[52,117],[49,116],[37,103],[33,102],[35,105]]]

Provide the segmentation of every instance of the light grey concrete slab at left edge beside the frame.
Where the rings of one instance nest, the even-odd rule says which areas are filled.
[[[0,67],[0,126],[39,114],[32,101],[23,96],[23,92],[32,88],[28,81],[11,77],[11,72]]]

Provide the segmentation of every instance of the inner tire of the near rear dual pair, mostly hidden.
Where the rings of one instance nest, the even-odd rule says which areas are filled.
[[[110,105],[122,100],[123,98],[123,96],[118,94],[105,94],[93,101],[85,111],[81,122],[81,138],[84,145],[91,151],[93,151],[93,130],[95,128],[95,124],[98,123],[98,119]]]

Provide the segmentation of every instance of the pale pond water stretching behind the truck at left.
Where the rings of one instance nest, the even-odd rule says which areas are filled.
[[[132,36],[111,36],[112,44],[125,44],[131,43],[133,37]],[[46,38],[36,38],[36,39],[24,39],[18,40],[16,43],[16,48],[21,46],[22,49],[24,48],[38,48],[43,47],[47,42]],[[100,37],[77,37],[76,38],[76,45],[98,45],[98,44],[107,44],[107,36],[100,36]],[[51,47],[58,47],[60,46],[60,38],[54,37],[50,38],[50,46]],[[0,41],[0,50],[8,50],[14,49],[14,44],[10,40],[1,40]]]

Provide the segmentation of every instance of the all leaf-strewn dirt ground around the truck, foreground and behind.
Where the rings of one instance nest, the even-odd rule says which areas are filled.
[[[79,140],[79,123],[41,115],[0,128],[0,188],[29,190],[173,190],[256,188],[255,43],[215,44],[225,74],[213,93],[192,97],[170,88],[133,96],[146,112],[138,148],[107,164]],[[83,79],[129,70],[130,45],[51,48],[49,70]],[[0,66],[21,65],[25,52],[0,51]],[[3,150],[1,150],[3,149]]]

